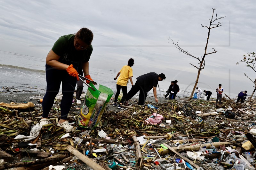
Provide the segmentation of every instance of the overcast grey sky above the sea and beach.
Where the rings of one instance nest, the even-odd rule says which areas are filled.
[[[178,51],[169,37],[192,55],[204,55],[212,8],[222,26],[211,30],[205,69],[199,87],[252,93],[255,72],[236,65],[248,52],[256,52],[255,1],[108,0],[1,1],[0,50],[31,55],[45,61],[54,42],[80,28],[92,30],[90,67],[116,71],[134,58],[133,74],[164,73],[190,85],[196,80],[198,60]],[[215,14],[214,14],[215,17]],[[229,74],[230,73],[230,74]],[[229,81],[229,77],[231,80]],[[229,88],[230,82],[230,88]]]

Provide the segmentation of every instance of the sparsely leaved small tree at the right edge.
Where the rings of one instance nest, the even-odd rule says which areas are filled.
[[[237,62],[236,64],[239,64],[240,62],[244,62],[246,67],[250,67],[254,72],[256,72],[256,54],[254,52],[250,52],[244,55],[244,58],[242,60],[240,60],[239,62]],[[244,73],[244,76],[246,76],[247,78],[249,78],[246,73]],[[251,81],[252,79],[249,78]],[[254,90],[252,92],[251,97],[253,96],[254,92],[256,91],[256,78],[254,79],[254,81],[252,81],[252,83],[254,84]]]

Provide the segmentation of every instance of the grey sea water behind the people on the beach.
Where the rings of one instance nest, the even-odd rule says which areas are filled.
[[[121,66],[120,66],[121,68]],[[115,95],[116,92],[116,77],[117,72],[114,70],[89,69],[92,79],[98,84],[105,85],[112,89]],[[14,90],[22,91],[35,91],[39,93],[45,93],[46,90],[46,79],[45,79],[45,59],[40,59],[38,57],[20,55],[9,52],[0,51],[0,72],[1,72],[1,87],[11,87],[14,86]],[[136,75],[133,72],[133,83],[135,84],[136,78],[140,75]],[[178,80],[179,81],[179,80]],[[177,97],[188,97],[191,94],[192,86],[179,84],[180,92],[177,93]],[[156,88],[157,96],[163,98],[166,94],[167,89],[170,86],[170,82],[163,80],[159,82],[159,87]],[[132,88],[131,83],[127,84],[127,92]],[[84,91],[87,90],[86,85],[84,85]],[[205,89],[209,90],[209,89]],[[0,89],[1,91],[1,89]],[[61,87],[60,87],[61,91]],[[216,92],[212,89],[213,98],[216,97]],[[196,92],[196,91],[195,91]],[[204,94],[204,93],[203,93]],[[113,95],[113,96],[114,96]],[[235,95],[235,94],[234,94]],[[235,97],[235,96],[231,97]],[[138,97],[137,93],[134,97]],[[153,89],[148,92],[148,96],[154,96]],[[202,95],[203,96],[203,95]],[[203,98],[202,98],[203,99]]]

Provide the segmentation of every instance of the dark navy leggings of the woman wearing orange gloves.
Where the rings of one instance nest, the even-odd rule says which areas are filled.
[[[43,118],[47,118],[53,106],[54,99],[60,90],[62,83],[62,99],[60,102],[61,119],[66,120],[72,106],[73,94],[76,88],[76,78],[69,76],[66,70],[57,70],[45,65],[46,93],[43,98]]]

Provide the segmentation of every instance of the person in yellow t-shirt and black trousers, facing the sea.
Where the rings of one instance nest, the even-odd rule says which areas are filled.
[[[116,80],[117,77],[121,74],[116,83],[116,96],[115,96],[115,101],[114,101],[113,106],[117,106],[116,102],[117,102],[118,96],[120,94],[121,88],[122,88],[122,92],[123,92],[123,97],[121,99],[120,105],[124,102],[125,96],[127,94],[128,79],[130,79],[130,82],[133,87],[133,82],[132,82],[132,77],[133,77],[132,66],[133,66],[133,64],[134,64],[133,58],[130,58],[128,61],[128,64],[124,65],[122,67],[122,69],[117,73],[116,77],[114,78],[114,80]]]

